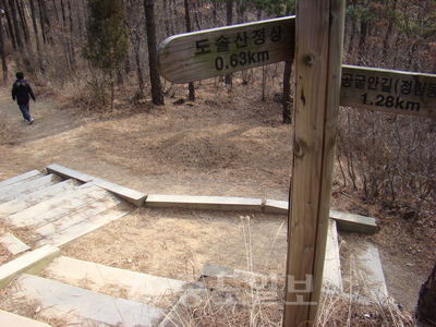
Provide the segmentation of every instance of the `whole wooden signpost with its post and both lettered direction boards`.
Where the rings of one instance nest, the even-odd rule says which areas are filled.
[[[294,59],[294,135],[283,326],[317,314],[339,106],[436,118],[436,75],[341,64],[346,0],[298,1],[296,17],[181,34],[158,70],[187,83]]]

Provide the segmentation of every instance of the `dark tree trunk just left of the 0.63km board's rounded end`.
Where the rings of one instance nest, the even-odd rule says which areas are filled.
[[[156,25],[155,25],[155,4],[152,0],[144,0],[145,22],[147,28],[148,43],[148,66],[152,83],[152,100],[157,106],[164,105],[164,94],[160,86],[160,76],[156,66]]]

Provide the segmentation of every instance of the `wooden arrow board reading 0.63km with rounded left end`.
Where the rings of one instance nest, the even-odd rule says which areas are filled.
[[[294,16],[180,34],[160,44],[158,71],[180,84],[290,60],[294,38]]]

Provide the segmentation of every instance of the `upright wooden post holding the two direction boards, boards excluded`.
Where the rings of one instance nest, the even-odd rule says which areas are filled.
[[[283,326],[312,326],[319,303],[339,111],[343,20],[344,0],[298,1]]]

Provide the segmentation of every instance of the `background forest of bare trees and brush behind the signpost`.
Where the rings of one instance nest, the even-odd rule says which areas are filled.
[[[3,82],[21,68],[47,94],[86,110],[130,102],[162,105],[171,88],[156,71],[156,47],[166,37],[289,15],[290,1],[1,0]],[[436,2],[348,0],[344,64],[436,73]],[[282,102],[291,123],[292,62],[228,75],[261,83],[263,100]],[[283,73],[282,73],[283,72]],[[162,85],[164,84],[164,85]],[[202,83],[190,83],[190,99]],[[279,90],[279,93],[278,93]],[[186,89],[187,92],[187,89]],[[431,225],[436,204],[434,119],[341,108],[337,183],[363,201],[414,223]],[[428,219],[427,219],[428,218]]]

